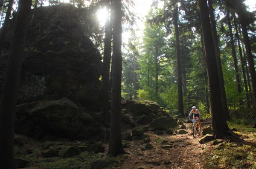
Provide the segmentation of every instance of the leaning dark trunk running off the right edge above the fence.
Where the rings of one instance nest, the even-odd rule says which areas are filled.
[[[244,45],[245,45],[245,51],[247,55],[247,62],[249,65],[249,71],[251,75],[251,81],[252,81],[252,87],[253,87],[253,104],[254,107],[256,107],[256,72],[255,72],[255,67],[254,67],[254,59],[253,59],[253,54],[250,46],[250,39],[248,37],[248,32],[247,32],[247,25],[246,25],[246,18],[244,14],[244,6],[241,1],[237,1],[237,13],[239,16],[239,20],[241,23],[241,28],[242,28],[242,34],[244,38]]]

